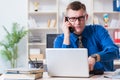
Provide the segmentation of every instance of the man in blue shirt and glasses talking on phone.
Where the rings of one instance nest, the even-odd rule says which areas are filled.
[[[83,3],[70,3],[63,20],[63,34],[55,39],[54,48],[78,48],[78,37],[82,36],[82,45],[88,49],[89,70],[114,71],[113,60],[119,57],[118,47],[103,26],[85,25],[87,19]],[[70,27],[73,33],[69,31]]]

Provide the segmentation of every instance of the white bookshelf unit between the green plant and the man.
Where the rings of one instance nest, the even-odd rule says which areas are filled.
[[[28,0],[28,30],[28,56],[42,61],[46,34],[58,33],[58,0]]]

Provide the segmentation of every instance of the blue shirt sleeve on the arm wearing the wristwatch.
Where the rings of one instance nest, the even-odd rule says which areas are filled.
[[[100,61],[110,61],[119,58],[119,48],[114,44],[108,31],[103,27],[96,28],[96,36],[99,40],[102,51],[96,53],[100,55]]]

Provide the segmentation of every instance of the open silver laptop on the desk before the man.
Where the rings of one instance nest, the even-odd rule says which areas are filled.
[[[90,77],[86,48],[46,48],[46,64],[51,77]]]

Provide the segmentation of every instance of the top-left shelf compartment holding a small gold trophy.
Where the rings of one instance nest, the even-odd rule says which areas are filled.
[[[35,5],[35,3],[37,3]],[[57,11],[57,0],[28,0],[29,11]]]

